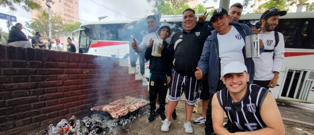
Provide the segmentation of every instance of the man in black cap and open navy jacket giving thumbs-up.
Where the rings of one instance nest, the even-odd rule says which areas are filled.
[[[245,37],[254,35],[253,31],[245,24],[229,22],[230,15],[224,8],[215,9],[210,23],[215,30],[204,44],[202,56],[198,62],[195,77],[201,79],[208,74],[209,101],[212,100],[216,91],[225,88],[225,84],[219,80],[223,69],[228,63],[239,61],[246,65],[250,74],[250,82],[254,78],[254,63],[252,58],[245,55]],[[260,40],[260,52],[263,52],[263,42]],[[213,134],[212,104],[208,103],[205,122],[205,135]]]

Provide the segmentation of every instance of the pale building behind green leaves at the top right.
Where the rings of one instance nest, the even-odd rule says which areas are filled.
[[[253,7],[251,8],[251,13],[255,13],[255,10],[258,8],[259,5],[266,3],[269,0],[253,0],[252,5]],[[306,8],[309,4],[313,3],[314,0],[308,0],[303,4],[300,4],[299,2],[296,4],[293,4],[292,6],[289,6],[289,10],[287,11],[288,13],[291,12],[306,12]]]

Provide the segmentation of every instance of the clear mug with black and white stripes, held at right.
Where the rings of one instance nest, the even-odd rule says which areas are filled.
[[[245,37],[246,58],[259,57],[259,34]]]

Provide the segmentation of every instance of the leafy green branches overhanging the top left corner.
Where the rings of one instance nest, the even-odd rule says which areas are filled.
[[[41,5],[36,3],[35,0],[0,0],[1,7],[8,7],[12,11],[17,10],[17,5],[21,6],[27,12],[41,8]]]

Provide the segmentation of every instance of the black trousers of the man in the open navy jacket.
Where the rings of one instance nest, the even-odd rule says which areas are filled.
[[[217,89],[216,91],[219,91],[221,89],[224,89],[226,85],[222,80],[218,81]],[[214,94],[209,92],[209,101],[208,101],[208,108],[206,111],[206,122],[205,122],[205,132],[212,133],[214,132],[213,129],[213,122],[212,122],[212,99]]]

